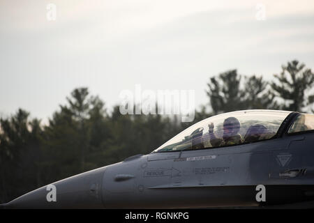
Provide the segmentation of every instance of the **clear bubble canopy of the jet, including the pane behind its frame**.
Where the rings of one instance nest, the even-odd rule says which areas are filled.
[[[290,113],[245,110],[211,116],[177,134],[154,152],[213,148],[271,139]],[[300,114],[288,133],[305,129],[314,130],[313,115]]]

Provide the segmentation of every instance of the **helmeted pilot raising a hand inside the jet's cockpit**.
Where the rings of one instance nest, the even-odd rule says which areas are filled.
[[[240,122],[237,118],[229,117],[223,121],[223,138],[220,139],[214,134],[214,123],[210,123],[209,127],[209,141],[211,146],[230,146],[241,144],[244,142],[240,131]]]

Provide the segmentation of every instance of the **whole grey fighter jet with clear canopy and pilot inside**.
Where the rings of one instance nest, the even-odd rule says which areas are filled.
[[[1,207],[258,208],[312,201],[314,115],[245,110],[211,116],[147,155],[59,180]]]

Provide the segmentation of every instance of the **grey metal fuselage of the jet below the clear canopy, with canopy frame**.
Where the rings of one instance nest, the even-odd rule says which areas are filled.
[[[294,114],[296,116],[297,114]],[[314,132],[250,144],[163,151],[59,180],[3,208],[207,208],[314,201]],[[264,185],[266,201],[257,201]]]

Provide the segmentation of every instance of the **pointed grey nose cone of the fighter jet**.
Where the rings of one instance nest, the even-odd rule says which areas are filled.
[[[105,167],[40,187],[3,204],[1,208],[104,208],[102,182]]]

